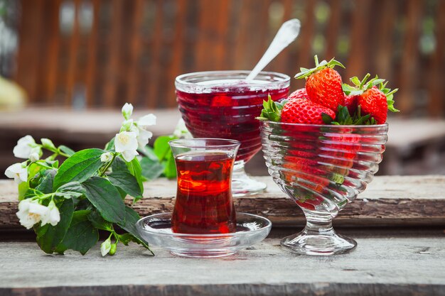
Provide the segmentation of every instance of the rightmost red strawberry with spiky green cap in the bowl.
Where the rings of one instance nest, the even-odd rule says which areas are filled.
[[[356,116],[368,116],[370,119],[366,121],[367,124],[385,124],[388,110],[392,112],[399,111],[393,106],[394,100],[392,99],[397,89],[386,88],[387,82],[377,76],[367,82],[369,77],[369,73],[361,81],[358,77],[353,77],[350,81],[355,84],[355,87],[345,84],[343,89],[345,89],[346,94],[350,95],[352,93],[353,97],[356,97],[357,106],[360,106],[357,109]]]

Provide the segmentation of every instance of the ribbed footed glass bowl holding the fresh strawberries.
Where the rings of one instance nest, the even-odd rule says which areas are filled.
[[[332,219],[352,202],[378,170],[387,124],[326,126],[262,121],[261,138],[269,174],[303,210],[306,227],[282,246],[295,253],[331,255],[357,243],[336,234]]]

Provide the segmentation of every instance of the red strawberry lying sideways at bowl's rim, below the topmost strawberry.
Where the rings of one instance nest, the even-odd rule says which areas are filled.
[[[325,124],[322,118],[323,113],[332,119],[336,117],[331,109],[307,99],[295,98],[284,104],[281,121],[290,124]]]

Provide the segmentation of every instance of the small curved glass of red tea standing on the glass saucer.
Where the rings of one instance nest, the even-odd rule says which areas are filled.
[[[173,232],[235,232],[231,175],[239,145],[237,141],[223,139],[171,141],[178,172],[176,202],[171,219]]]

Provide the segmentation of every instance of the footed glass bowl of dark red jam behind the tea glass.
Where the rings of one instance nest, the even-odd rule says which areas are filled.
[[[241,142],[232,175],[234,197],[257,194],[263,182],[249,177],[247,163],[261,150],[259,122],[263,100],[287,97],[290,77],[260,72],[245,81],[249,71],[195,72],[176,77],[176,99],[188,131],[195,138],[229,138]]]

